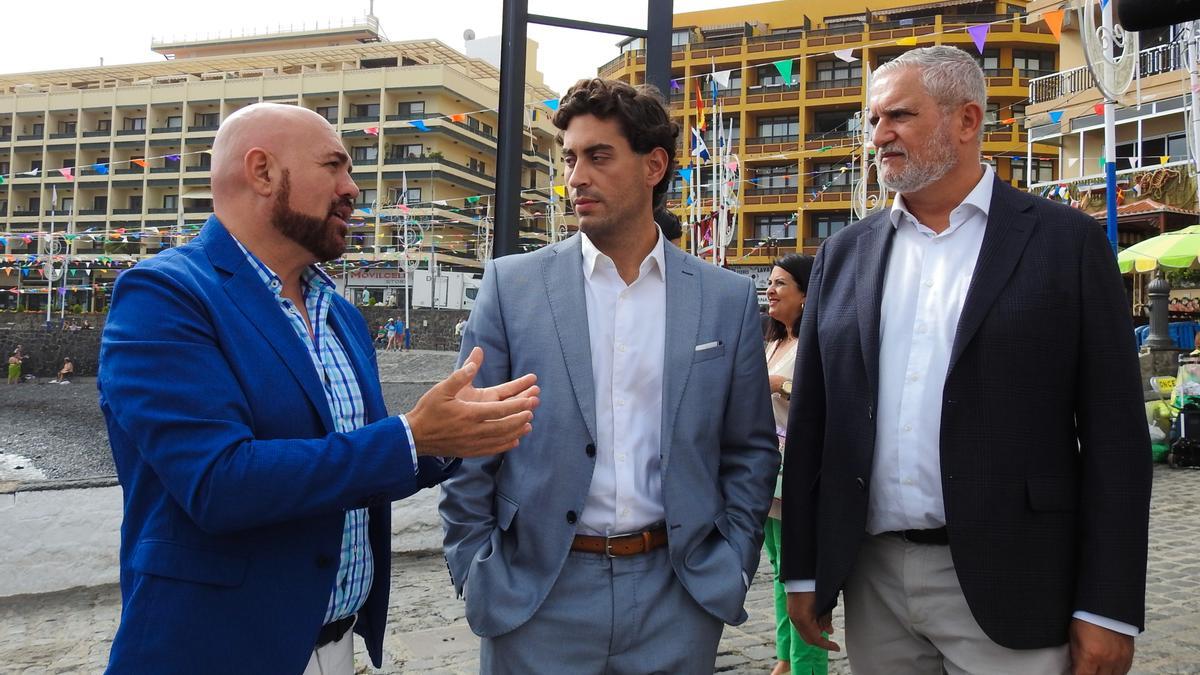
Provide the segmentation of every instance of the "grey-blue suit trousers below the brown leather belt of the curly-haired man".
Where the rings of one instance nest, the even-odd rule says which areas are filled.
[[[480,673],[712,673],[724,628],[676,578],[666,546],[614,558],[571,551],[533,617],[481,641]]]

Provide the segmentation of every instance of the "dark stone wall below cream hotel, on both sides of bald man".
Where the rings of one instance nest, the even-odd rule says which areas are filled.
[[[404,317],[403,307],[377,305],[359,307],[359,311],[366,317],[372,336],[389,317],[401,319]],[[467,310],[410,309],[413,348],[457,352],[460,339],[454,334],[454,327],[468,313]],[[66,317],[68,323],[74,319],[82,324],[86,319],[92,329],[62,330],[58,316],[54,317],[53,327],[47,328],[43,313],[0,312],[0,354],[4,354],[0,359],[0,365],[4,368],[0,370],[7,372],[8,356],[17,345],[20,345],[22,351],[29,357],[22,369],[23,375],[54,377],[62,368],[64,357],[71,357],[76,375],[94,377],[100,359],[100,334],[106,316],[104,313],[71,315]]]

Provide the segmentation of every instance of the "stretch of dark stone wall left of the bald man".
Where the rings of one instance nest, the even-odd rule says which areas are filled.
[[[76,375],[91,377],[96,375],[96,362],[100,356],[100,333],[104,327],[103,313],[70,315],[67,323],[74,319],[82,324],[86,319],[91,330],[62,330],[55,315],[52,325],[47,328],[46,315],[38,312],[0,312],[0,354],[4,354],[4,370],[8,370],[8,357],[17,345],[28,357],[22,375],[54,377],[62,368],[62,359],[71,357]]]

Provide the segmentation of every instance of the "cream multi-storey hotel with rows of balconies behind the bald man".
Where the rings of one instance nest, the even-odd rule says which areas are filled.
[[[68,305],[102,306],[121,269],[193,237],[212,209],[221,120],[259,101],[311,108],[344,139],[362,192],[340,264],[395,270],[434,257],[481,269],[496,66],[436,40],[389,42],[370,16],[151,47],[164,58],[0,74],[0,309],[44,307],[47,276],[61,277],[54,291],[67,288]],[[541,104],[557,95],[532,65],[526,82],[521,232],[532,246],[558,235],[547,221],[558,153]]]

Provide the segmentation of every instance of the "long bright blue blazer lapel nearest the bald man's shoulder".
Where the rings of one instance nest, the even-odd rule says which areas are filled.
[[[292,371],[300,388],[320,414],[325,429],[334,430],[334,417],[329,412],[325,389],[312,366],[308,350],[296,336],[288,317],[275,301],[275,297],[250,264],[224,226],[209,219],[202,233],[203,245],[214,267],[229,274],[224,282],[229,303],[238,307],[246,321],[258,330],[266,344],[280,356],[280,360]]]

